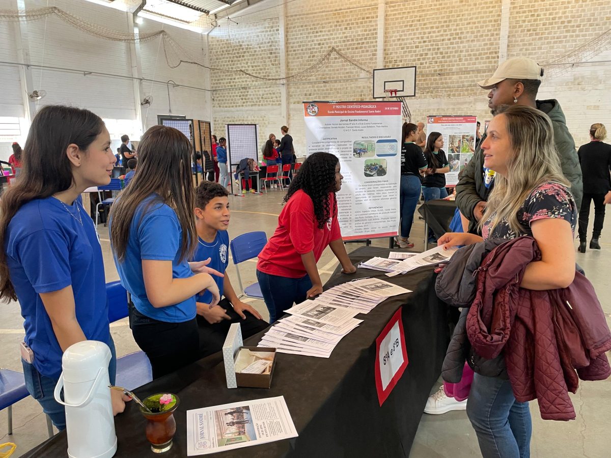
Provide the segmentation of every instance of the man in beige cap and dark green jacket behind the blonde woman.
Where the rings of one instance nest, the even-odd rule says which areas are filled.
[[[488,107],[493,115],[500,105],[525,105],[540,109],[547,114],[554,126],[554,139],[562,172],[571,183],[571,193],[580,208],[583,181],[575,142],[566,127],[565,114],[557,100],[536,100],[541,85],[543,68],[534,60],[514,57],[505,60],[489,78],[478,82],[482,89],[489,89]],[[483,143],[486,134],[481,137]],[[465,167],[456,185],[456,206],[469,219],[469,232],[477,233],[477,223],[486,207],[486,200],[494,186],[494,171],[484,169],[484,156],[478,146],[473,158]]]

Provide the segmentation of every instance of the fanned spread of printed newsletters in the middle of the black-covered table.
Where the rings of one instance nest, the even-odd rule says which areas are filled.
[[[280,353],[328,358],[335,346],[363,320],[354,318],[369,313],[382,300],[409,289],[379,280],[360,278],[327,289],[313,300],[285,310],[263,336],[260,347],[275,347]]]

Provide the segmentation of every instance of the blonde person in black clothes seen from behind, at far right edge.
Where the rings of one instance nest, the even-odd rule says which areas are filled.
[[[590,143],[582,145],[577,151],[581,172],[584,176],[584,198],[579,209],[579,251],[585,253],[590,202],[594,201],[594,230],[590,240],[590,250],[600,250],[598,239],[605,220],[604,199],[611,191],[611,145],[603,143],[607,129],[601,123],[590,126]]]

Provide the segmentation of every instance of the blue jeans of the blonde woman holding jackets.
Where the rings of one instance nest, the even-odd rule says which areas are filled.
[[[516,401],[509,380],[475,374],[467,416],[483,458],[530,457],[529,403]]]

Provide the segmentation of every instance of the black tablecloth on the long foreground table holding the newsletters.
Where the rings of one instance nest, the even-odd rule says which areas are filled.
[[[389,250],[360,247],[355,264]],[[414,291],[379,304],[335,347],[331,358],[278,354],[272,387],[227,388],[220,353],[203,358],[177,373],[134,390],[140,398],[171,391],[180,397],[175,413],[177,433],[166,457],[186,456],[186,410],[228,402],[284,395],[298,438],[225,451],[229,457],[407,457],[431,387],[441,373],[449,339],[445,304],[434,293],[433,269],[423,267],[389,278],[383,272],[358,269],[354,275],[335,271],[326,287],[359,277],[379,277]],[[380,407],[375,388],[376,337],[398,307],[409,364],[389,398]],[[261,334],[244,344],[255,346]],[[117,457],[153,457],[144,434],[145,421],[134,402],[115,418]],[[65,457],[65,432],[57,434],[30,457]]]

